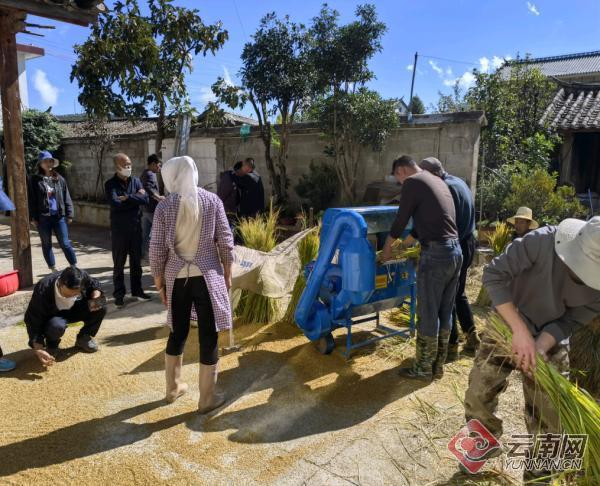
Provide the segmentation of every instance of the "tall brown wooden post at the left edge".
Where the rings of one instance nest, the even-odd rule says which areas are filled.
[[[4,148],[8,190],[16,206],[16,210],[12,211],[10,218],[13,265],[16,270],[19,270],[21,288],[33,285],[16,39],[16,32],[23,26],[24,18],[24,13],[0,10],[0,95],[4,124]]]

